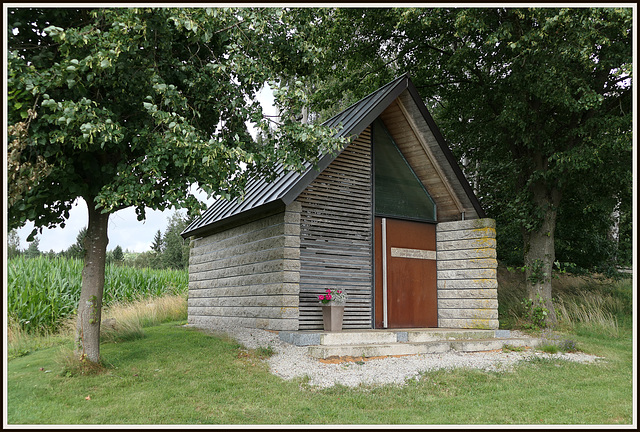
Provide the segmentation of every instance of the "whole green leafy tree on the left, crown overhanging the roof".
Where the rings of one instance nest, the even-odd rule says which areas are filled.
[[[317,51],[282,9],[9,8],[7,19],[8,153],[26,185],[8,223],[33,221],[33,237],[86,202],[80,358],[99,361],[110,214],[196,214],[193,185],[230,198],[250,176],[301,169],[342,145],[295,120],[302,83],[287,78],[308,73]],[[276,128],[255,99],[265,82],[282,113]]]

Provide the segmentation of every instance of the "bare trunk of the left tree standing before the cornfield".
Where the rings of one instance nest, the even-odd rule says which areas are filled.
[[[100,320],[107,256],[109,214],[95,209],[93,199],[86,200],[89,224],[84,239],[86,255],[82,269],[82,290],[78,304],[76,355],[81,360],[100,361]]]

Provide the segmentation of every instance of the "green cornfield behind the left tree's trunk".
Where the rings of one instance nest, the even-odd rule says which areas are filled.
[[[76,312],[82,260],[17,257],[7,264],[7,313],[24,331],[55,332],[65,318]],[[186,293],[188,281],[186,270],[108,265],[103,306],[114,301]]]

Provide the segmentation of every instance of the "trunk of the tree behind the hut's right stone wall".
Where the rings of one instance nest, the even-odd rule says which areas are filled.
[[[542,214],[542,223],[536,230],[523,230],[527,296],[534,308],[547,310],[546,324],[555,324],[551,272],[556,259],[554,235],[560,192],[557,189],[549,191],[543,184],[534,185],[532,192],[535,206]]]

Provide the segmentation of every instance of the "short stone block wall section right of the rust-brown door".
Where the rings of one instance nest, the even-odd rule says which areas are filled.
[[[498,328],[498,261],[493,219],[436,227],[438,327]]]

